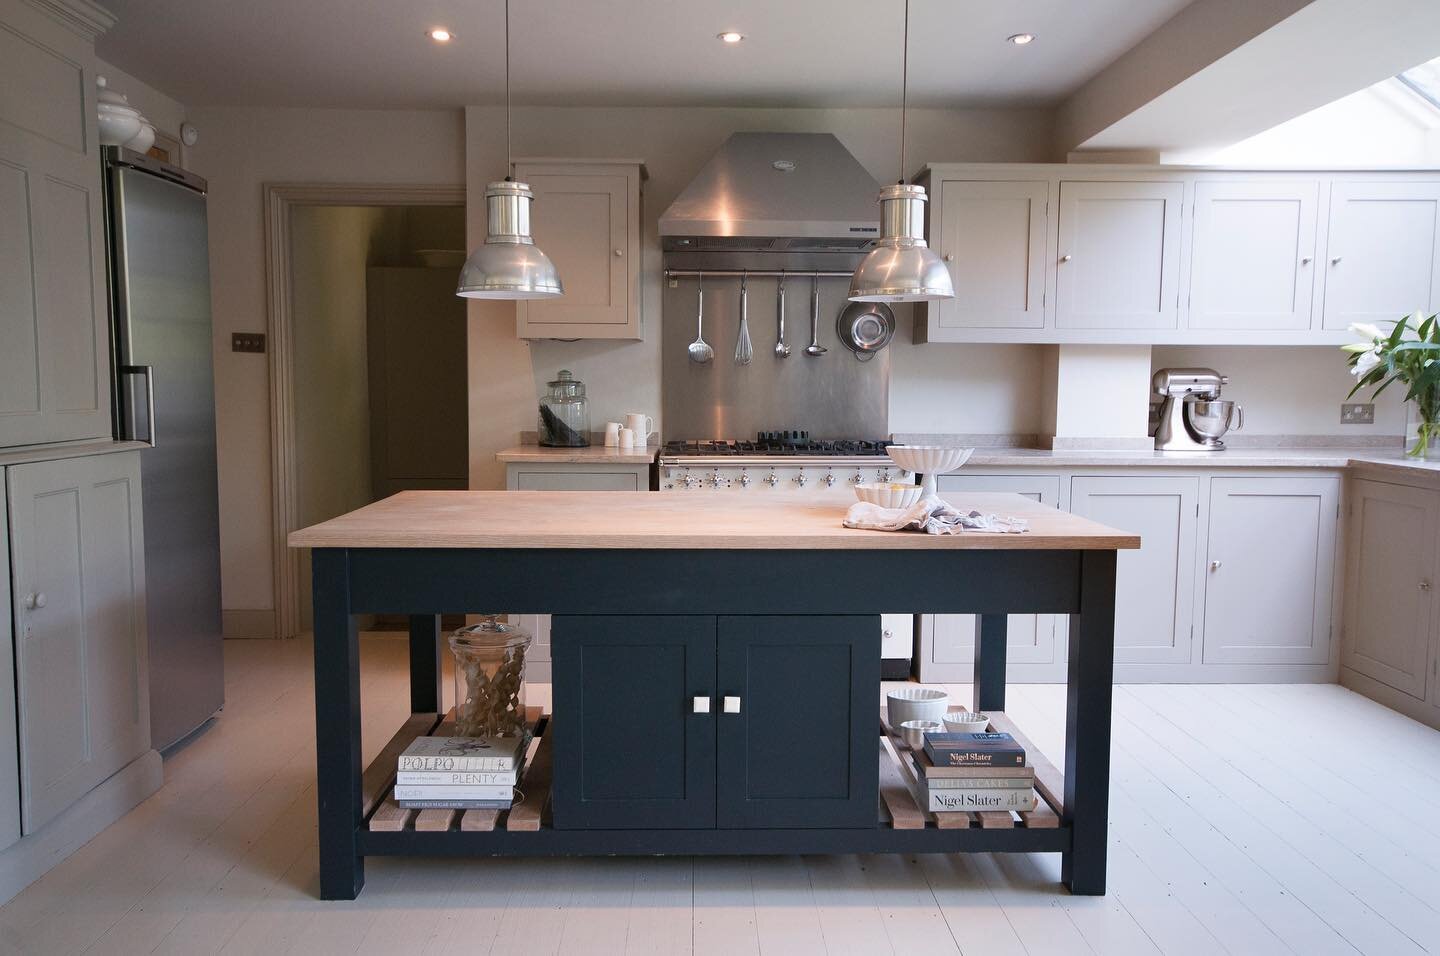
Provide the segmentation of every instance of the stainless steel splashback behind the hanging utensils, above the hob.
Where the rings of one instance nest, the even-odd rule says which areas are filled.
[[[819,344],[824,356],[805,354],[809,344],[809,276],[785,284],[785,341],[792,354],[776,358],[778,279],[749,279],[750,337],[755,360],[734,363],[740,325],[740,279],[706,278],[706,341],[714,361],[697,366],[685,346],[696,340],[696,279],[665,279],[662,301],[661,403],[664,436],[747,438],[782,428],[808,429],[814,438],[884,438],[890,430],[890,350],[858,361],[835,337],[835,318],[845,307],[847,278],[819,279]]]

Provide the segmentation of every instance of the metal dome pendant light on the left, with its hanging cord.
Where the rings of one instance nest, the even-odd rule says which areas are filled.
[[[505,170],[510,170],[510,0],[505,0]],[[531,299],[564,295],[554,263],[530,238],[526,183],[505,176],[485,186],[485,245],[469,253],[455,295],[487,299]]]

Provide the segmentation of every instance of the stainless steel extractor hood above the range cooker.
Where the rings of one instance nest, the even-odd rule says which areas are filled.
[[[852,268],[880,184],[828,132],[736,132],[660,217],[667,268]]]

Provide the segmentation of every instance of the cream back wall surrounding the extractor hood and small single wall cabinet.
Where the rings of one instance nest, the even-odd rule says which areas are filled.
[[[469,173],[469,245],[484,236],[485,183],[504,174],[504,112],[471,107],[467,115]],[[638,343],[533,341],[514,338],[513,308],[471,307],[471,330],[484,344],[471,347],[471,383],[485,389],[480,403],[471,396],[471,484],[504,487],[504,469],[494,454],[533,430],[534,397],[557,369],[583,379],[592,419],[616,412],[660,413],[661,255],[657,220],[690,179],[732,132],[772,130],[834,132],[878,181],[899,176],[899,111],[896,109],[670,109],[670,108],[534,108],[514,115],[514,154],[549,157],[641,158],[649,171],[644,196],[645,338]],[[1050,157],[1050,112],[1040,109],[913,109],[907,155],[920,161],[1044,161]],[[909,325],[903,321],[901,325]],[[684,343],[680,343],[683,346]],[[668,347],[678,347],[668,343]],[[1025,347],[994,347],[986,358],[959,346],[914,347],[909,334],[897,340],[891,361],[894,380],[907,379],[891,394],[891,428],[912,430],[996,430],[981,425],[995,415],[1009,430],[1032,432],[1025,387],[999,380],[998,369],[1024,370]],[[912,387],[909,379],[924,382]],[[985,392],[972,397],[973,383]],[[1009,402],[1018,399],[1018,405]],[[971,428],[971,426],[975,428]],[[664,430],[664,422],[660,422]]]

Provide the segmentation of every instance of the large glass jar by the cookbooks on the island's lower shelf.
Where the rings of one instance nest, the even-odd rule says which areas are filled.
[[[461,628],[449,641],[455,655],[455,736],[524,736],[530,633],[491,615]]]

